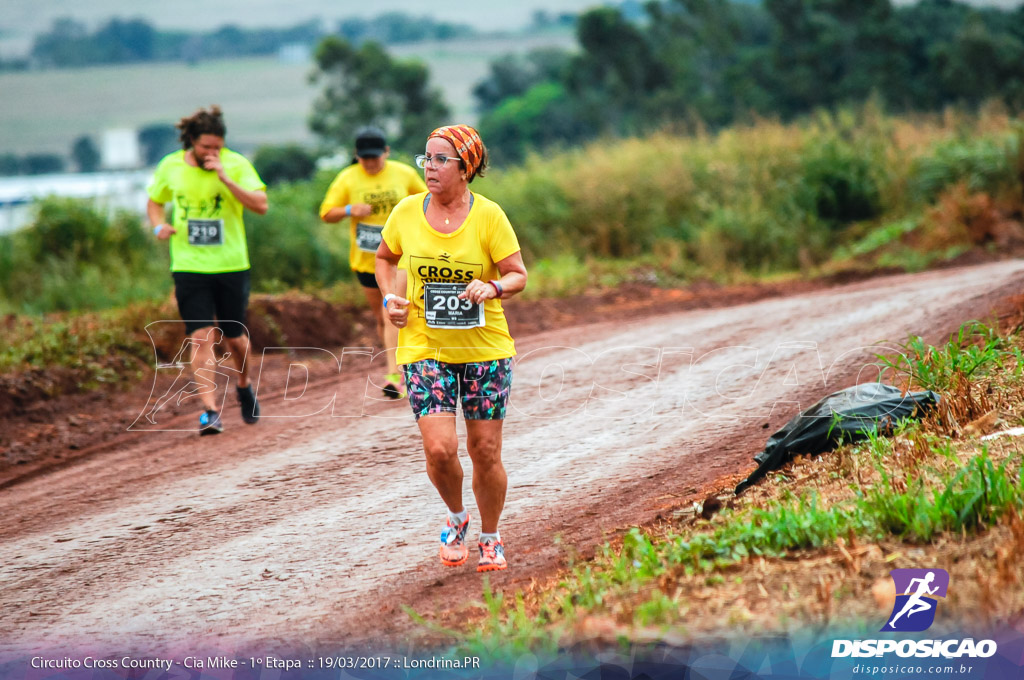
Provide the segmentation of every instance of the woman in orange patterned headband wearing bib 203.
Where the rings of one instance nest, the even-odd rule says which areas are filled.
[[[502,426],[512,387],[515,345],[500,298],[526,287],[526,267],[505,213],[469,190],[486,167],[479,133],[468,125],[437,128],[417,157],[427,194],[395,207],[377,250],[377,282],[388,318],[401,329],[398,363],[423,436],[427,474],[447,506],[440,560],[469,556],[456,409],[462,401],[473,495],[480,513],[477,571],[508,566],[498,523],[508,476]],[[395,284],[403,262],[409,285]]]

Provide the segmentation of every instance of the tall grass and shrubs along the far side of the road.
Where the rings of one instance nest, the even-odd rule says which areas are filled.
[[[920,269],[974,248],[1024,247],[1022,130],[996,109],[909,119],[867,103],[715,135],[602,139],[494,168],[473,188],[515,225],[530,295]],[[352,280],[348,224],[317,217],[333,176],[272,186],[269,212],[247,217],[254,292]],[[166,295],[167,246],[137,217],[70,200],[37,208],[31,227],[0,237],[0,313]]]

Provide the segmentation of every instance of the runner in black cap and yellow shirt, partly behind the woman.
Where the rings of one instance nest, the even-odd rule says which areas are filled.
[[[327,190],[319,213],[325,222],[351,218],[348,263],[374,311],[377,335],[386,352],[387,373],[382,383],[384,393],[398,398],[406,393],[395,364],[398,329],[384,321],[383,298],[374,277],[374,258],[381,242],[381,229],[391,210],[407,196],[425,192],[427,187],[416,170],[388,160],[390,152],[384,131],[380,128],[365,127],[356,132],[355,156],[358,162],[338,173]]]

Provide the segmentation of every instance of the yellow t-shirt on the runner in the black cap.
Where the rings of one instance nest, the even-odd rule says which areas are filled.
[[[334,178],[324,203],[321,218],[332,208],[343,208],[351,203],[367,203],[374,211],[367,217],[352,217],[351,242],[348,247],[348,264],[352,271],[374,272],[374,259],[380,233],[391,210],[411,194],[427,190],[420,173],[396,161],[388,161],[376,175],[369,174],[356,163]]]

